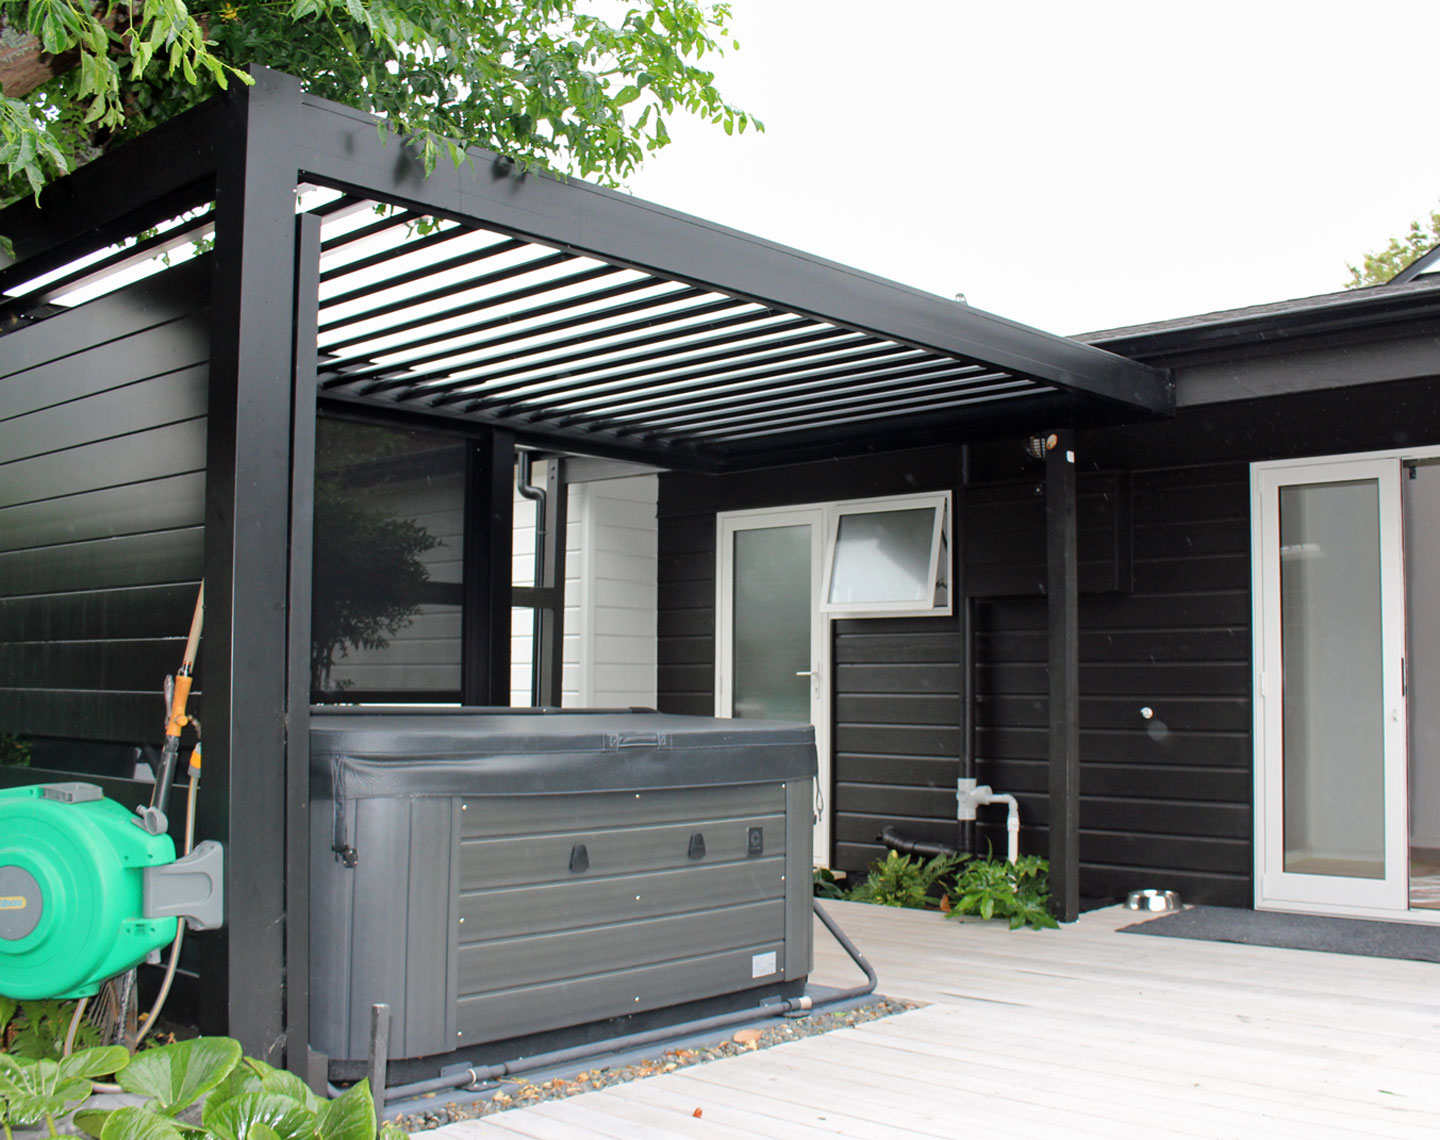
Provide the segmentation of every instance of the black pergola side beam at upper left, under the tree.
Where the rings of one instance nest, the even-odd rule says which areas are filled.
[[[177,115],[0,210],[0,292],[164,222],[213,197],[216,151],[235,137],[235,105],[210,101]]]

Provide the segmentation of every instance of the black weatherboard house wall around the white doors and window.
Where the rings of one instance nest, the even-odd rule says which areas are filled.
[[[1083,436],[1080,448],[1083,461]],[[1018,442],[1004,451],[1018,452]],[[953,451],[929,449],[769,478],[664,476],[660,707],[701,714],[714,707],[716,511],[933,489],[956,481],[956,471]],[[956,514],[976,597],[975,774],[1017,795],[1021,851],[1045,854],[1043,468],[1025,475],[971,487]],[[1162,885],[1194,901],[1248,904],[1247,494],[1243,463],[1081,474],[1080,887],[1087,895]],[[960,618],[851,619],[831,630],[834,865],[861,871],[883,852],[876,835],[886,823],[955,842],[966,728]],[[1004,809],[981,809],[976,843],[981,854],[1004,852]]]

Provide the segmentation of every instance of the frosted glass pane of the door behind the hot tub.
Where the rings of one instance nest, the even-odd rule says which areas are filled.
[[[809,724],[811,607],[811,528],[736,531],[736,717]]]

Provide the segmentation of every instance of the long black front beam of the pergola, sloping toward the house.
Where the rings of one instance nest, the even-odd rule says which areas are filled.
[[[360,196],[984,361],[1133,415],[1175,409],[1162,370],[590,183],[520,173],[490,151],[426,178],[374,118],[340,104],[304,96],[297,134],[302,177]]]

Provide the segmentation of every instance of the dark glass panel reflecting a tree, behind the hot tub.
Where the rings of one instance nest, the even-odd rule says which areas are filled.
[[[459,698],[464,476],[452,436],[317,423],[317,698]]]

